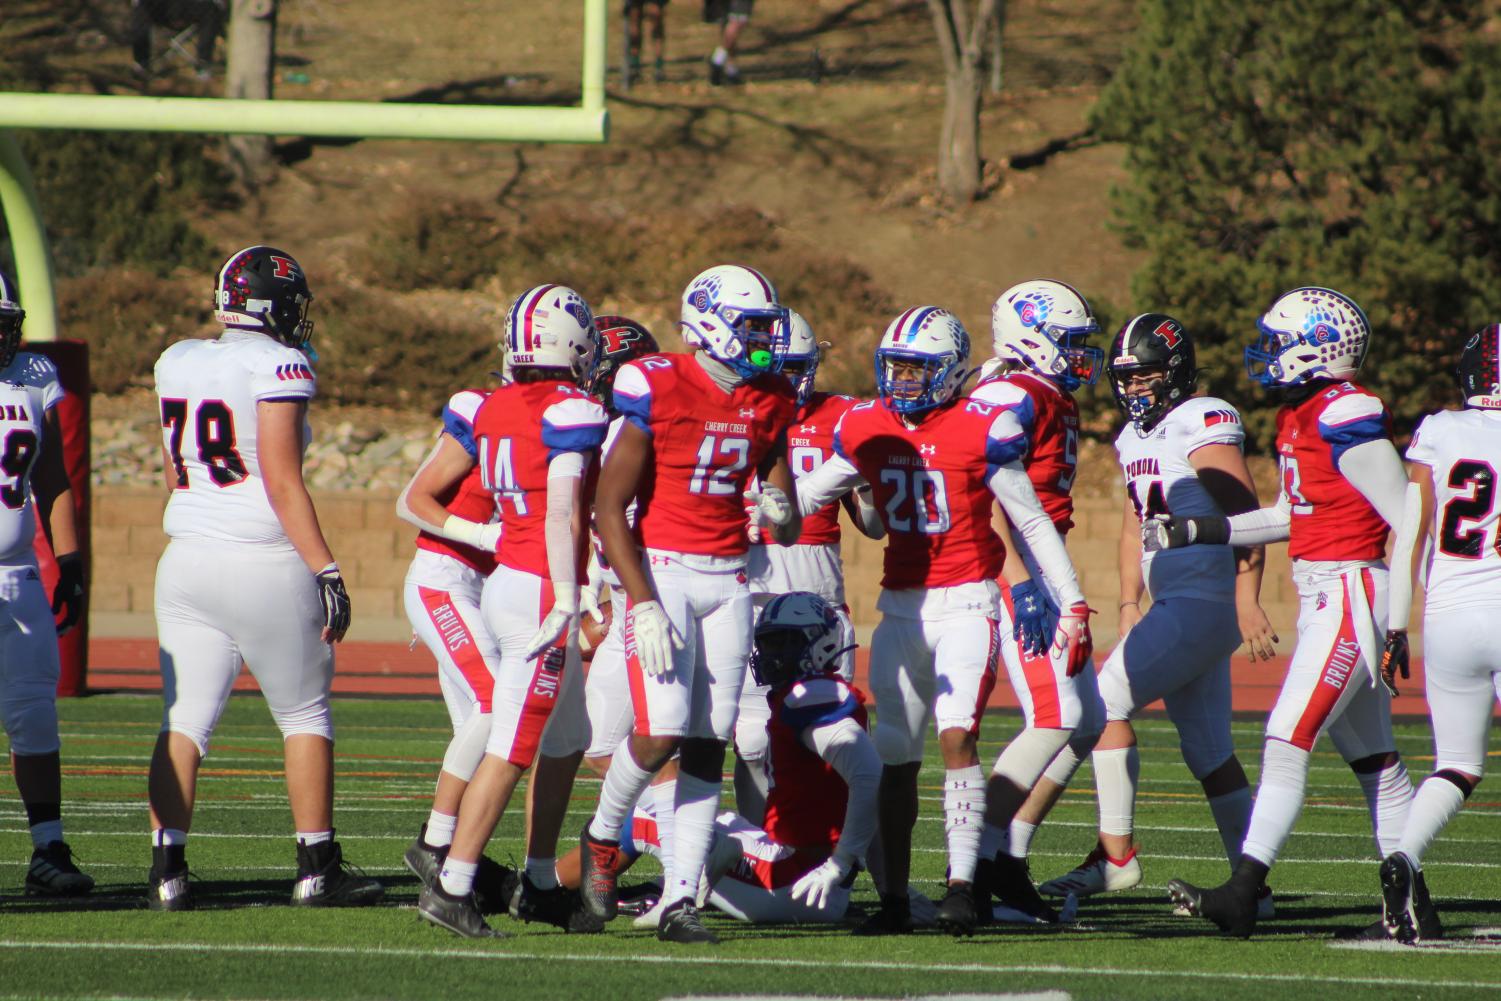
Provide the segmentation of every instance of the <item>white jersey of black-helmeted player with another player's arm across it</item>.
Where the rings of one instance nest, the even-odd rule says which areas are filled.
[[[1174,515],[1204,518],[1222,515],[1204,489],[1189,456],[1207,444],[1244,447],[1246,429],[1240,413],[1223,399],[1196,396],[1172,410],[1148,434],[1127,423],[1115,438],[1126,494],[1136,518]],[[1229,546],[1186,546],[1142,552],[1141,572],[1153,600],[1165,597],[1235,597],[1235,557]]]

